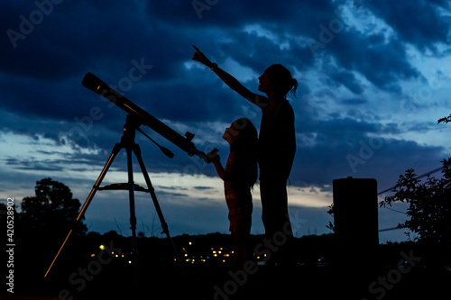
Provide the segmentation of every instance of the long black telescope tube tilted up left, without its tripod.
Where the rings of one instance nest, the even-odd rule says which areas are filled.
[[[107,86],[105,82],[91,72],[88,72],[83,78],[81,85],[98,95],[106,97],[106,99],[122,108],[126,113],[132,115],[141,125],[147,126],[153,131],[158,132],[162,137],[178,146],[179,149],[187,152],[189,156],[197,155],[199,158],[204,159],[205,162],[210,162],[207,155],[198,150],[191,141],[194,138],[193,133],[186,132],[185,136],[181,136],[178,132],[173,131],[168,125],[152,116],[152,114],[147,113],[143,108],[133,104],[133,102],[128,100],[124,95],[119,94],[113,88]]]

